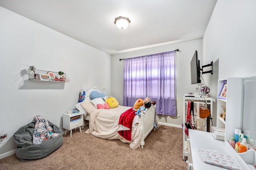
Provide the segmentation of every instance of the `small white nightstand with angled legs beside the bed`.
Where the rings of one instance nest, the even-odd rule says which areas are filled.
[[[72,121],[72,118],[78,116],[79,119]],[[67,113],[63,114],[63,128],[66,129],[65,135],[67,130],[70,131],[70,137],[72,137],[72,129],[76,129],[79,127],[80,133],[82,133],[81,126],[84,125],[84,114],[83,113],[71,113],[68,115]]]

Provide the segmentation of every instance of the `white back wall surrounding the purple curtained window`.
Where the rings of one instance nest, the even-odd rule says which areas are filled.
[[[183,121],[183,96],[188,92],[196,92],[196,88],[198,87],[197,85],[191,84],[190,61],[196,50],[198,51],[198,58],[202,58],[202,39],[112,55],[112,96],[122,105],[124,61],[119,61],[119,59],[173,51],[176,49],[179,49],[179,51],[176,52],[176,112],[180,115],[180,119],[177,119],[177,116],[158,115],[158,120],[163,124],[167,123],[173,126],[181,126]]]

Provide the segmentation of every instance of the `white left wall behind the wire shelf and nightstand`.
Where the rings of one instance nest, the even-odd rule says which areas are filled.
[[[81,88],[97,86],[111,94],[111,56],[0,7],[0,158],[16,148],[13,134],[37,114],[62,128]],[[101,62],[99,62],[101,61]],[[63,71],[71,82],[28,80],[28,66]]]

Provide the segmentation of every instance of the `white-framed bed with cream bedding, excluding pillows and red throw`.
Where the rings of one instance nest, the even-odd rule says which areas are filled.
[[[129,143],[131,149],[143,148],[145,145],[144,139],[154,129],[154,121],[156,109],[154,105],[146,109],[144,113],[134,116],[131,131],[131,141],[120,135],[120,132],[127,129],[122,129],[122,125],[119,123],[119,118],[122,113],[128,111],[132,107],[120,106],[110,109],[96,109],[92,100],[90,100],[90,94],[92,92],[104,93],[105,90],[94,87],[86,90],[86,97],[83,102],[76,104],[76,108],[79,111],[84,112],[84,119],[89,121],[89,129],[86,130],[86,134],[92,134],[96,137],[103,139],[119,139],[124,143]],[[154,129],[155,130],[155,129]]]

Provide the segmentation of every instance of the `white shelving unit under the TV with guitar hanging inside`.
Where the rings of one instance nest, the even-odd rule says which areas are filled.
[[[206,104],[208,104],[208,106],[210,107],[210,111],[211,111],[211,116],[212,116],[212,98],[209,97],[200,97],[199,95],[195,96],[195,97],[186,97],[188,96],[187,94],[184,95],[183,97],[183,160],[186,160],[185,156],[188,157],[188,137],[185,134],[185,123],[186,123],[186,117],[187,117],[187,106],[188,106],[188,102],[194,102],[194,118],[196,120],[196,103],[198,102],[200,104],[200,106],[204,105],[206,106]],[[204,102],[206,103],[204,103]],[[193,122],[193,116],[192,116],[192,124],[194,126],[194,122]],[[210,127],[209,127],[210,128]],[[204,128],[204,131],[206,131],[206,127]]]

